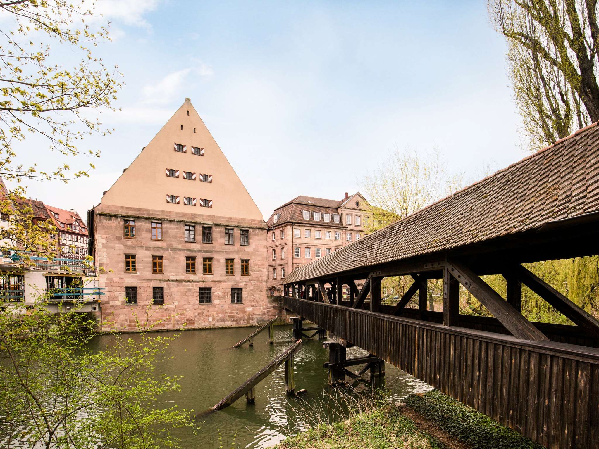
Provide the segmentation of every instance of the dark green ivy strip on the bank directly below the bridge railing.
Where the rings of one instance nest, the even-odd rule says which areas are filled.
[[[406,405],[449,435],[477,449],[542,449],[515,430],[503,426],[438,390],[410,395]]]

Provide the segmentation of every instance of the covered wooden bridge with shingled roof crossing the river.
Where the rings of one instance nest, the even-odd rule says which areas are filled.
[[[522,264],[597,254],[594,124],[296,269],[283,301],[546,447],[596,448],[599,322]],[[480,277],[488,274],[505,277],[507,298]],[[381,280],[397,275],[412,277],[412,286],[396,306],[381,305]],[[442,312],[427,310],[429,279],[443,279]],[[366,280],[362,289],[356,280]],[[524,318],[522,284],[575,325]],[[311,286],[319,286],[316,301],[300,299]],[[460,286],[493,317],[460,314]],[[406,308],[415,295],[419,307]]]

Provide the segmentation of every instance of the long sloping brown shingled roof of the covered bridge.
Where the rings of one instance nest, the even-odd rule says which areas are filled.
[[[597,123],[295,269],[285,283],[455,250],[595,212],[599,212]]]

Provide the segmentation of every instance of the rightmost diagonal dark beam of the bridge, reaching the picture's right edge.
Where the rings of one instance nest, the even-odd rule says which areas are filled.
[[[570,301],[564,295],[555,290],[541,278],[534,275],[524,266],[519,265],[514,270],[515,275],[529,289],[537,293],[541,298],[555,307],[559,312],[573,321],[577,326],[582,327],[595,337],[599,337],[599,321],[591,314],[580,308],[577,304]]]

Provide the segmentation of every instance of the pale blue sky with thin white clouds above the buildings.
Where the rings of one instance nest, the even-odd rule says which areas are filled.
[[[298,195],[360,190],[395,145],[437,147],[470,179],[526,156],[484,0],[95,4],[112,37],[95,54],[125,81],[119,111],[90,113],[112,134],[80,143],[101,157],[66,160],[34,136],[19,144],[41,145],[21,151],[41,167],[94,163],[89,178],[27,184],[83,217],[186,97],[265,219]]]

